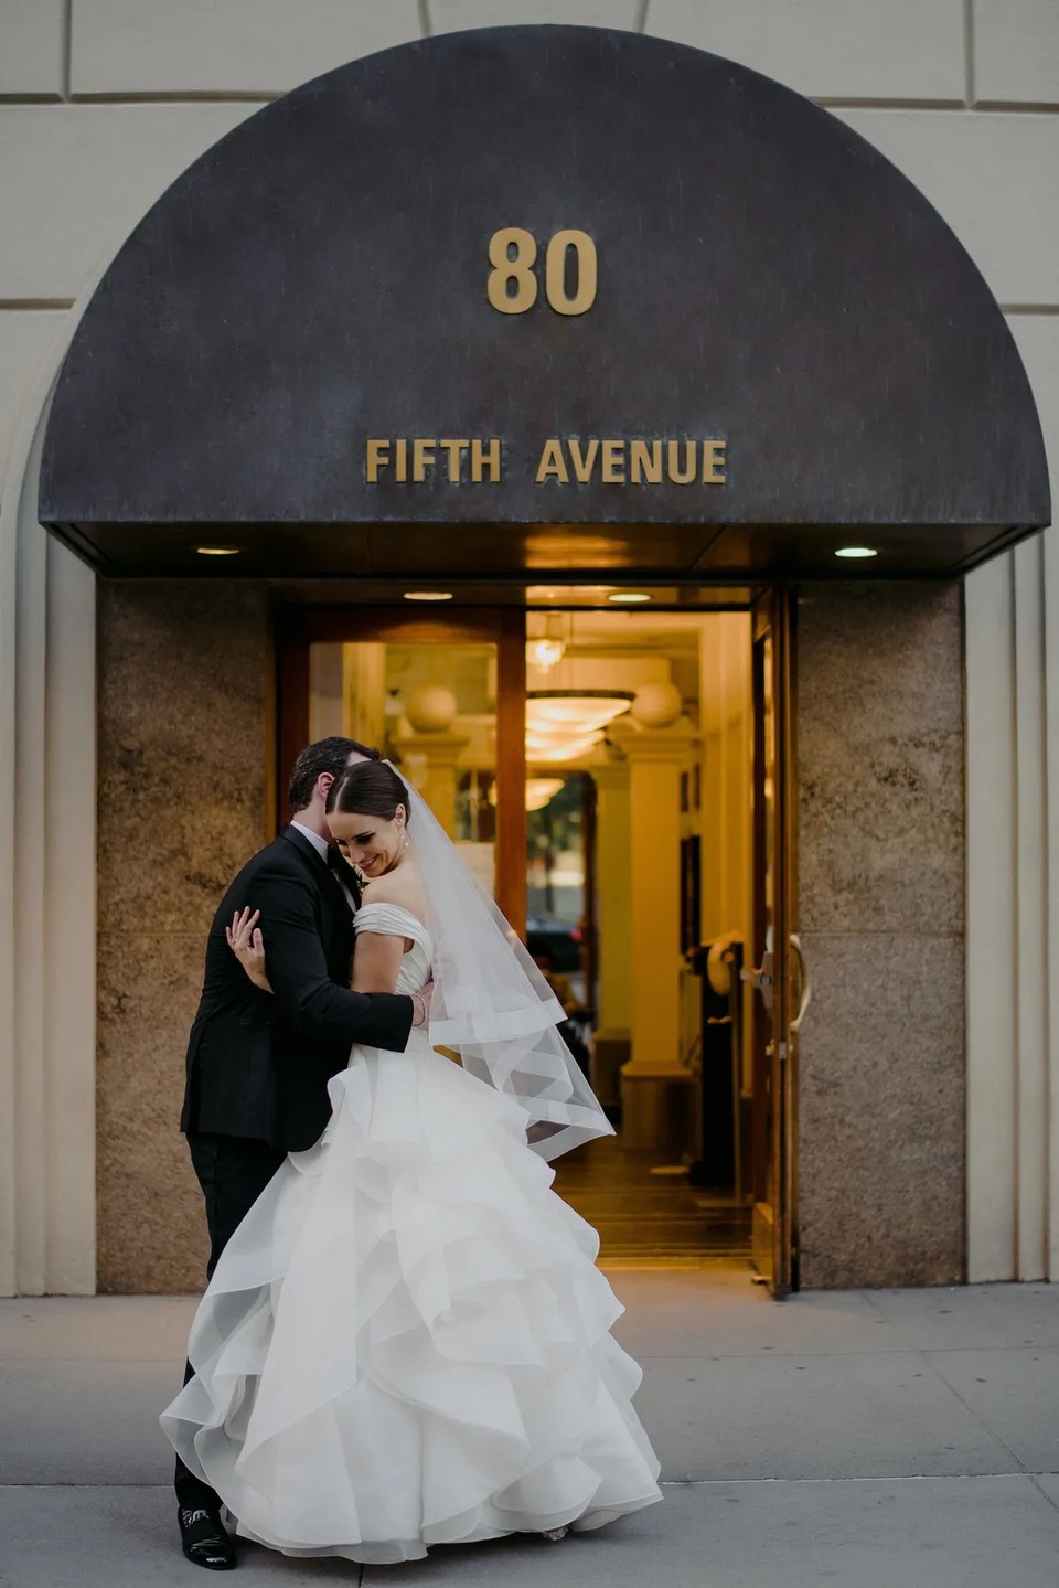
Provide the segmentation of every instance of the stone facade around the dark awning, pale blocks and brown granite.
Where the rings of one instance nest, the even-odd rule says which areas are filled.
[[[92,626],[84,613],[83,643],[57,643],[70,629],[64,602],[78,578],[62,572],[67,554],[59,548],[48,557],[35,549],[37,526],[29,510],[17,511],[33,454],[21,443],[13,453],[19,427],[37,422],[43,394],[35,383],[68,340],[75,305],[164,187],[257,105],[357,54],[424,32],[519,21],[638,27],[730,56],[816,98],[878,145],[949,221],[1005,308],[1042,411],[1053,476],[1059,473],[1054,0],[800,0],[797,6],[789,0],[225,0],[222,6],[5,0],[0,202],[11,224],[0,235],[0,478],[14,461],[0,522],[0,767],[14,767],[16,754],[25,764],[32,745],[41,769],[51,769],[54,751],[54,773],[62,773],[48,738],[56,702],[79,700],[78,686],[90,673]],[[872,710],[878,707],[880,737],[859,742],[862,756],[849,767],[843,805],[827,773],[841,753],[827,711],[849,705],[840,699],[848,684],[838,657],[854,635],[840,632],[834,592],[813,597],[816,605],[802,610],[799,676],[802,927],[816,962],[816,1005],[802,1051],[803,1280],[834,1285],[876,1275],[881,1283],[900,1262],[908,1264],[902,1277],[910,1282],[956,1278],[962,885],[954,829],[943,831],[949,816],[959,818],[953,783],[959,746],[945,715],[956,710],[954,697],[945,703],[943,691],[930,696],[929,729],[897,743],[884,723],[900,721],[900,700],[888,696],[888,678],[873,673],[867,699]],[[84,603],[84,589],[79,599]],[[857,656],[894,661],[897,648],[886,642],[884,649],[883,635],[891,624],[913,651],[926,646],[922,665],[927,657],[943,662],[953,691],[964,676],[954,602],[953,592],[937,589],[889,607],[883,591],[865,597],[851,607],[865,622]],[[1056,1134],[1048,1107],[1053,1115],[1059,1108],[1059,1051],[1048,1039],[1059,1029],[1059,853],[1042,865],[1040,838],[1059,818],[1059,673],[1049,640],[1059,632],[1056,602],[1053,534],[972,576],[967,589],[969,1278],[1059,1275],[1059,1221],[1048,1216],[1059,1194],[1059,1158],[1046,1150]],[[210,611],[219,607],[224,621],[214,626]],[[249,769],[260,796],[264,611],[264,594],[238,584],[222,596],[200,586],[100,586],[98,746],[106,792],[98,827],[98,1183],[100,1283],[108,1288],[183,1288],[200,1275],[197,1194],[183,1147],[167,1134],[179,1093],[173,1048],[179,1039],[171,1032],[183,1035],[194,1008],[213,885],[262,832],[264,805],[251,794]],[[44,618],[46,649],[27,640],[44,632]],[[218,702],[208,659],[229,642],[240,676],[230,699]],[[135,691],[122,696],[117,681],[129,683],[138,665],[152,688],[149,705],[138,703]],[[907,672],[902,665],[902,676]],[[916,689],[919,699],[926,675]],[[203,737],[191,753],[187,721],[176,718],[195,715],[195,702],[206,700]],[[857,726],[867,729],[868,711],[854,718],[851,732]],[[183,759],[176,745],[187,751]],[[230,772],[237,762],[246,770],[241,781]],[[208,792],[213,773],[216,794]],[[211,837],[206,859],[197,851],[191,865],[181,845],[198,829],[181,826],[178,842],[154,821],[164,816],[171,824],[178,791]],[[43,853],[44,829],[25,808],[16,811],[14,799],[13,777],[0,777],[0,873],[19,875],[14,891],[0,888],[0,1005],[2,994],[24,992],[19,978],[33,940],[25,924],[37,931],[38,918],[60,921],[40,867],[25,862],[27,854]],[[922,819],[915,832],[902,800]],[[179,811],[176,821],[184,823]],[[160,843],[165,864],[159,862],[157,886],[154,873],[149,886],[143,881],[140,862],[117,864],[124,823],[137,846]],[[910,845],[907,864],[897,861],[902,835]],[[90,897],[90,845],[64,856],[64,867],[70,896]],[[149,975],[138,958],[146,931],[138,912],[146,902],[157,937]],[[1048,943],[1051,959],[1042,946]],[[87,1031],[94,1016],[87,966],[76,981],[67,972],[62,985],[49,980],[51,970],[41,975],[48,985],[37,1024],[46,1026],[49,1004],[62,997],[65,1016]],[[162,1026],[170,1035],[159,1045],[149,1032]],[[895,1029],[910,1032],[910,1043],[922,1040],[929,1059],[919,1066],[915,1054],[908,1064],[902,1059],[880,1089],[870,1056]],[[62,1058],[70,1045],[56,1037],[54,1048]],[[76,1088],[62,1066],[57,1073],[62,1096],[90,1091],[90,1073],[78,1072]],[[0,1008],[0,1288],[84,1288],[90,1261],[71,1262],[68,1253],[76,1243],[89,1251],[90,1231],[60,1172],[76,1154],[76,1121],[64,1118],[56,1134],[59,1115],[46,1105],[41,1075],[37,1048]],[[895,1126],[905,1126],[916,1104],[935,1110],[930,1147],[915,1134],[899,1139],[880,1123],[886,1105],[895,1110]],[[87,1105],[84,1121],[90,1143]],[[840,1151],[832,1153],[832,1135]],[[14,1162],[16,1143],[22,1166]],[[937,1161],[927,1169],[932,1154]],[[86,1169],[89,1145],[81,1156]],[[849,1186],[859,1186],[859,1196],[838,1189],[840,1164],[843,1172],[856,1169],[859,1178]],[[86,1174],[90,1178],[90,1167]],[[926,1232],[907,1228],[905,1193],[913,1189],[922,1197]],[[52,1210],[51,1223],[41,1218],[43,1205]],[[834,1229],[827,1250],[826,1226]],[[184,1255],[175,1261],[173,1253]]]

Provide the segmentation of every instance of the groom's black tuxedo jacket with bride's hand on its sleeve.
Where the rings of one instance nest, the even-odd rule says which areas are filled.
[[[227,945],[224,929],[245,905],[260,910],[275,996],[254,986]],[[352,946],[338,880],[308,838],[286,827],[243,867],[213,918],[181,1131],[302,1151],[327,1124],[327,1081],[354,1042],[403,1053],[411,999],[351,992]]]

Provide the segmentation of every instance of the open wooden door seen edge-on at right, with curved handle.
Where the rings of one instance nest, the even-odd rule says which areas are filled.
[[[753,611],[754,678],[754,945],[743,980],[753,999],[753,1255],[780,1301],[797,1289],[794,1247],[794,1042],[808,999],[792,897],[792,597],[767,591]]]

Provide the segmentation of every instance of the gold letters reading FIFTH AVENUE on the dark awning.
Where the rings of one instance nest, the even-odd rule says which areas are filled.
[[[451,486],[500,484],[508,448],[492,437],[368,437],[365,478],[379,483],[422,484],[441,478]],[[722,486],[727,480],[727,441],[689,440],[580,440],[549,435],[529,461],[537,484],[559,486]]]

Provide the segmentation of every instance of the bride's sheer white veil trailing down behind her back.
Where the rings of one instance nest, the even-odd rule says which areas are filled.
[[[613,1135],[556,1031],[562,1004],[427,802],[394,772],[408,791],[408,840],[433,939],[430,1042],[454,1048],[465,1070],[526,1110],[541,1158]]]

